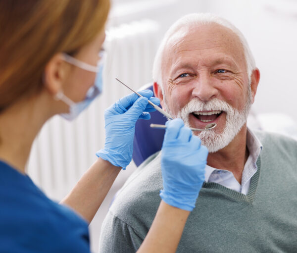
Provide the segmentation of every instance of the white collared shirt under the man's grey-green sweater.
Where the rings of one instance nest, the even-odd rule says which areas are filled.
[[[242,184],[234,177],[233,173],[228,170],[212,168],[208,165],[205,167],[205,182],[218,183],[229,189],[247,195],[251,177],[257,171],[256,161],[262,150],[262,144],[259,139],[247,128],[247,149],[249,155],[242,174]]]

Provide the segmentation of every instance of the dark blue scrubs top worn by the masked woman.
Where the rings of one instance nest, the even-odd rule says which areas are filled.
[[[90,253],[88,224],[0,161],[0,253]]]

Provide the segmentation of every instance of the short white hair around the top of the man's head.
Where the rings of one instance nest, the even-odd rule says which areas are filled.
[[[169,39],[172,36],[174,36],[177,32],[179,32],[181,29],[185,30],[185,27],[193,28],[198,25],[207,25],[207,24],[213,24],[213,23],[229,28],[238,36],[244,48],[244,55],[245,55],[246,65],[247,65],[248,83],[250,84],[250,76],[251,76],[252,70],[256,66],[255,66],[254,57],[248,47],[247,40],[242,34],[242,32],[238,30],[233,24],[231,24],[226,19],[216,16],[212,13],[192,13],[192,14],[183,16],[168,29],[155,55],[153,69],[152,69],[152,78],[154,82],[156,82],[161,86],[163,95],[165,94],[164,94],[163,84],[162,84],[162,61],[163,61],[164,50],[167,46]]]

